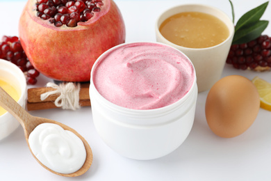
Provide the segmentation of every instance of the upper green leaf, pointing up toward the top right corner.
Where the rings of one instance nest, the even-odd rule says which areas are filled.
[[[266,7],[268,6],[268,1],[266,3],[263,3],[262,5],[249,10],[245,15],[240,17],[238,22],[236,23],[235,31],[238,31],[239,29],[242,29],[243,26],[247,26],[247,24],[252,24],[254,22],[258,22],[258,20],[261,18],[263,13],[265,12]]]

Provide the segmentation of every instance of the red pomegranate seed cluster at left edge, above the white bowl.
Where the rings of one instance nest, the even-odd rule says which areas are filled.
[[[37,83],[36,78],[40,75],[40,72],[35,70],[26,57],[17,36],[3,36],[2,42],[0,42],[0,58],[17,65],[24,72],[28,84],[34,85]]]

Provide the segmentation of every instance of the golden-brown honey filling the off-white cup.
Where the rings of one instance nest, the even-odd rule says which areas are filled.
[[[229,29],[213,15],[184,12],[165,19],[159,31],[176,45],[188,48],[213,47],[226,40]]]

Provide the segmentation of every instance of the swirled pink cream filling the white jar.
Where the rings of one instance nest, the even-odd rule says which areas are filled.
[[[92,72],[97,91],[121,107],[156,109],[180,100],[195,79],[192,63],[167,45],[136,42],[103,54]]]

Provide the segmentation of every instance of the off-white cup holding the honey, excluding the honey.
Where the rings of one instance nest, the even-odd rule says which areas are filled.
[[[159,31],[159,27],[165,21],[165,19],[177,13],[189,11],[208,13],[219,18],[228,27],[229,37],[219,45],[201,49],[181,47],[165,39]],[[213,84],[215,84],[215,82],[220,79],[222,70],[227,59],[227,55],[229,54],[229,48],[231,47],[234,33],[233,22],[221,10],[201,4],[186,4],[175,6],[168,10],[165,10],[165,12],[158,17],[155,24],[155,31],[156,40],[158,42],[163,42],[167,45],[175,47],[176,49],[181,50],[181,52],[183,52],[190,58],[197,72],[197,86],[199,88],[199,92],[209,90],[213,86]]]

